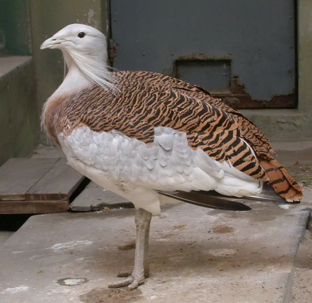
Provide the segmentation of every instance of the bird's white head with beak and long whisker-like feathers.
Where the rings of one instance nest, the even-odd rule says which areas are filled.
[[[115,80],[107,69],[106,37],[97,29],[84,24],[70,24],[44,41],[40,48],[61,49],[69,69],[67,76],[71,69],[78,68],[91,83],[105,90],[115,87]]]

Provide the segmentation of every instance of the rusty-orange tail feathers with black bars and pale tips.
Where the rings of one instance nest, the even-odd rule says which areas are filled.
[[[266,171],[269,184],[276,194],[287,202],[300,201],[303,198],[302,187],[279,162],[261,160],[260,164]]]

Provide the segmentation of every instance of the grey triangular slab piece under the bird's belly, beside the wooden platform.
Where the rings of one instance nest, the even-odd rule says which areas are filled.
[[[133,204],[110,190],[104,191],[99,185],[90,182],[90,184],[86,186],[86,188],[69,205],[69,209],[73,211],[101,210],[105,207],[129,208],[133,207]]]

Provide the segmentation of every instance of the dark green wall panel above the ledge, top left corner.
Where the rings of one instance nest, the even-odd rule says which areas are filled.
[[[31,54],[30,0],[0,0],[0,55]]]

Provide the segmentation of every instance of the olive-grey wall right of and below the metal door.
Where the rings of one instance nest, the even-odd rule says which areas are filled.
[[[312,1],[298,5],[298,109],[241,110],[272,142],[312,140]]]

